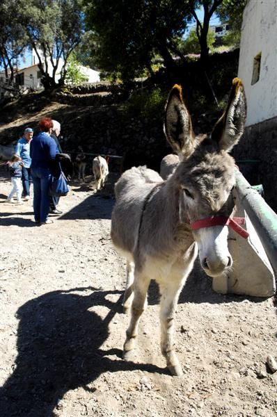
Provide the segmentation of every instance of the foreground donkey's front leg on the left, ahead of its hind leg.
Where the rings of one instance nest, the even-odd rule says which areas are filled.
[[[146,295],[150,279],[134,271],[134,300],[132,302],[132,317],[126,332],[126,340],[123,347],[123,359],[129,359],[130,352],[134,349],[134,341],[138,333],[139,319],[147,305]]]

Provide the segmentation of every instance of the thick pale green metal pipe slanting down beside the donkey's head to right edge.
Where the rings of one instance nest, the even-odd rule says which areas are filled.
[[[235,174],[239,199],[262,242],[274,272],[277,273],[277,214],[237,168]]]

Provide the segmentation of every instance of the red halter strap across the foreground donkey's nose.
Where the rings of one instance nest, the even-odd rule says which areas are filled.
[[[192,222],[190,226],[193,230],[202,229],[203,227],[229,226],[244,239],[248,238],[248,231],[244,230],[239,224],[245,224],[245,218],[230,218],[218,215],[212,218],[197,220],[196,222]]]

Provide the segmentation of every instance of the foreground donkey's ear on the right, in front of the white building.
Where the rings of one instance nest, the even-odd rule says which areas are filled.
[[[246,97],[244,85],[240,79],[235,78],[232,80],[228,106],[214,126],[212,139],[219,143],[221,149],[230,151],[244,133],[245,120]]]

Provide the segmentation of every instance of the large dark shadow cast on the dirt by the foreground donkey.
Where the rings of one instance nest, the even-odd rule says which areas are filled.
[[[106,300],[117,295],[116,302]],[[1,388],[1,417],[50,417],[58,400],[68,390],[92,383],[102,373],[140,369],[167,373],[164,368],[111,359],[121,356],[100,346],[109,336],[109,322],[121,311],[118,291],[73,288],[53,291],[29,302],[17,311],[17,359],[6,384]],[[93,306],[106,306],[102,319]]]

